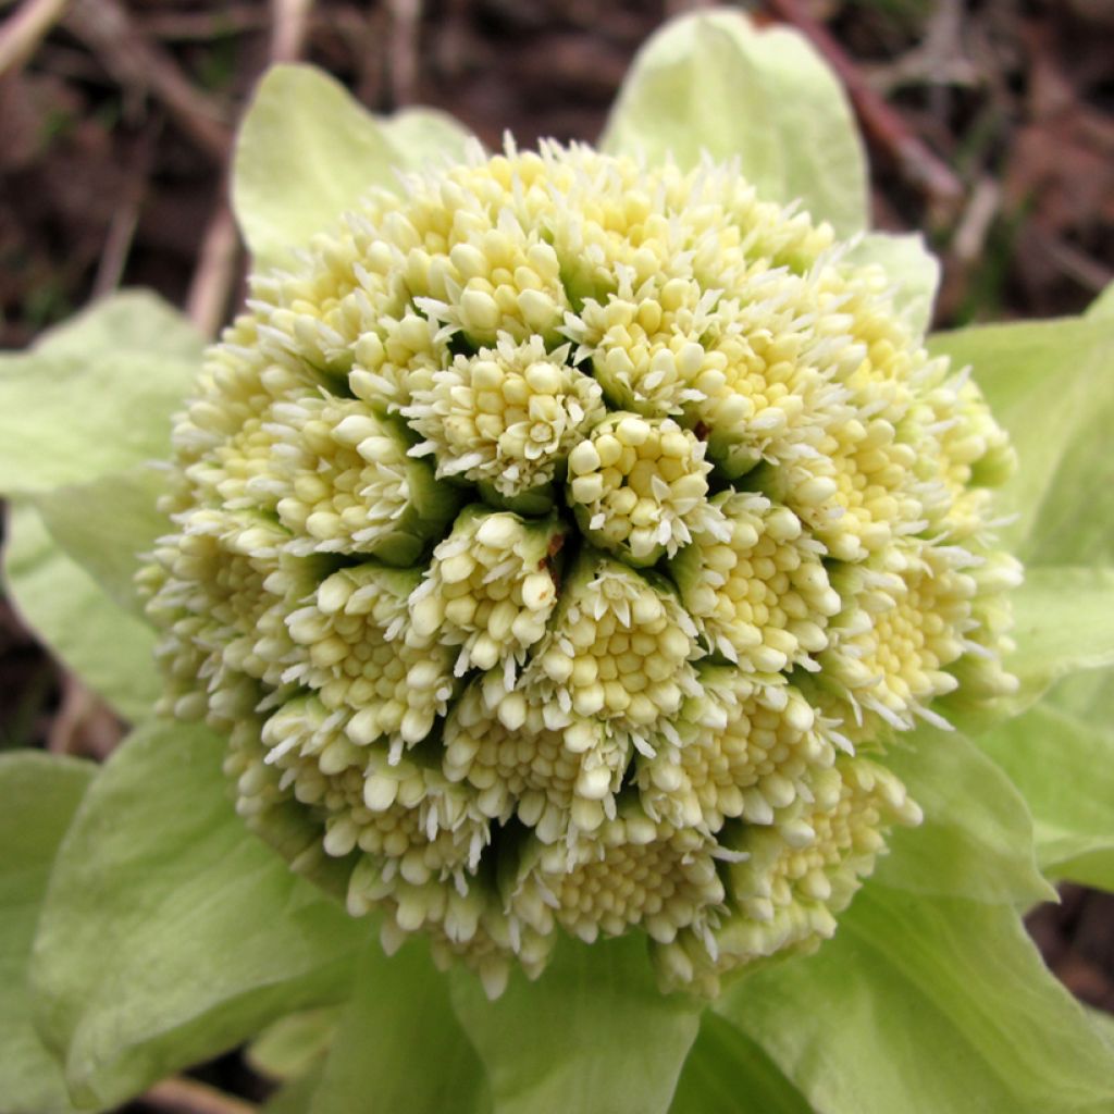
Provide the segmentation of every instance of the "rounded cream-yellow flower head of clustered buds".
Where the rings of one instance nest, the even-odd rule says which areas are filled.
[[[496,994],[641,929],[714,994],[919,821],[887,744],[1009,691],[1008,440],[736,167],[544,144],[402,182],[205,358],[140,574],[164,710],[388,948]]]

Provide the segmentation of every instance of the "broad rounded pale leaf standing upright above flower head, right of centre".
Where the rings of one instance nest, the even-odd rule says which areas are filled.
[[[613,154],[739,156],[765,199],[798,198],[841,235],[868,223],[862,141],[843,88],[797,31],[702,11],[662,28],[635,57],[600,145]]]

